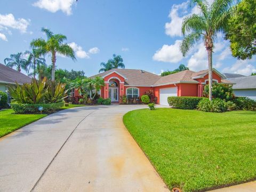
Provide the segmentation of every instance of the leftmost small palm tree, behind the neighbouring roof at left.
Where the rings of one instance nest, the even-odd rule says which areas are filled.
[[[5,58],[4,63],[7,67],[15,67],[19,72],[21,69],[29,73],[27,60],[23,58],[23,53],[11,54],[10,58]]]

